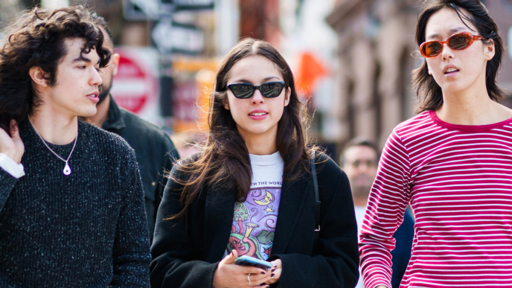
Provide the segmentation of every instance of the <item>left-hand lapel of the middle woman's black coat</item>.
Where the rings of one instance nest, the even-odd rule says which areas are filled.
[[[217,262],[226,251],[233,224],[236,191],[208,189],[204,213],[204,257]]]

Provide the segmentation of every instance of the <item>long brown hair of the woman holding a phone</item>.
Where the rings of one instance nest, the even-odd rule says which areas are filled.
[[[270,44],[245,38],[229,51],[217,72],[215,91],[210,95],[208,107],[206,143],[194,159],[177,163],[176,169],[180,172],[177,174],[185,174],[187,177],[169,175],[183,185],[181,202],[184,209],[168,219],[184,216],[190,204],[205,187],[234,189],[237,200],[245,201],[252,176],[249,152],[231,112],[224,108],[224,104],[227,102],[227,80],[231,68],[240,59],[251,55],[260,55],[271,60],[280,69],[286,86],[290,88],[289,92],[288,88],[285,89],[285,93],[290,93],[290,101],[284,107],[278,122],[276,139],[277,148],[284,161],[283,178],[293,181],[310,172],[308,155],[317,148],[309,144],[305,107],[297,97],[291,69],[283,56]]]

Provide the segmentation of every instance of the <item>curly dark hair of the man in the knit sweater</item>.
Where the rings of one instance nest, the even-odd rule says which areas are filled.
[[[96,50],[100,68],[109,63],[103,33],[83,6],[25,11],[6,29],[0,48],[0,128],[9,133],[11,119],[24,120],[40,103],[29,70],[39,67],[55,85],[57,66],[67,54],[65,40],[83,38],[81,53]]]

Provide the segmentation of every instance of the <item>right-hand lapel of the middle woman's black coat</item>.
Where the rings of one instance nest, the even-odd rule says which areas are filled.
[[[293,181],[283,181],[279,203],[278,222],[275,226],[272,255],[283,254],[290,241],[298,217],[301,215],[306,195],[313,189],[311,175]]]

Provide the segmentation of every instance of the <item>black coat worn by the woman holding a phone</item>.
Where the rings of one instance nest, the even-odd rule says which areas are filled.
[[[322,209],[318,245],[314,243],[314,186],[311,174],[283,182],[270,259],[283,271],[274,287],[354,287],[358,279],[357,225],[349,181],[322,154],[317,177]],[[173,169],[172,173],[177,173]],[[210,188],[189,207],[186,220],[162,220],[181,211],[181,186],[169,180],[158,209],[151,248],[152,287],[209,288],[226,251],[235,193]]]

